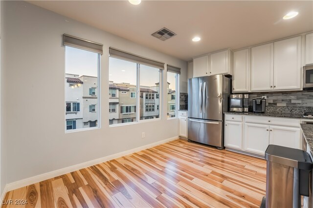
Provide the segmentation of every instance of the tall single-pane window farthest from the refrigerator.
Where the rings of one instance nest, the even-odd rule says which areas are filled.
[[[100,54],[66,45],[65,56],[65,129],[98,126]]]

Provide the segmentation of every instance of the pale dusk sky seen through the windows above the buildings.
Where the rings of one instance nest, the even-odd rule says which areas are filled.
[[[79,76],[97,76],[98,54],[66,46],[66,73]],[[175,89],[174,73],[168,73],[171,89]],[[136,63],[110,58],[109,80],[114,83],[136,84]],[[140,85],[155,86],[159,82],[159,70],[140,64]]]

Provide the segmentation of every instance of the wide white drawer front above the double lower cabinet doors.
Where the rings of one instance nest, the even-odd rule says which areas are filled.
[[[299,119],[285,119],[285,118],[273,118],[264,116],[246,116],[246,123],[257,123],[257,124],[267,124],[267,125],[285,125],[285,126],[300,126]]]

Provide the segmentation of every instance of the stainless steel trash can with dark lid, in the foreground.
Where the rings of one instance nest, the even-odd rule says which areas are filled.
[[[309,196],[309,154],[301,149],[269,145],[265,159],[266,208],[300,208],[300,195]]]

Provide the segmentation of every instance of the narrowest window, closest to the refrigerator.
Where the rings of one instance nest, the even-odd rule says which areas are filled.
[[[180,70],[180,69],[179,69]],[[167,96],[167,117],[174,118],[177,116],[177,106],[179,104],[179,72],[175,70],[170,70],[168,66],[167,71],[167,84],[168,84],[168,96]]]

